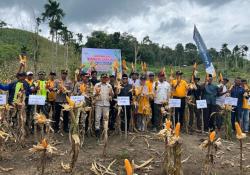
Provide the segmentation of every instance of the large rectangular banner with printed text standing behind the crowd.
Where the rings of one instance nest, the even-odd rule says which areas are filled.
[[[98,72],[112,74],[112,65],[117,60],[121,71],[121,50],[120,49],[96,49],[82,48],[82,64],[85,65],[83,70],[90,73],[91,64],[96,64]]]

